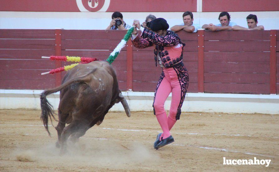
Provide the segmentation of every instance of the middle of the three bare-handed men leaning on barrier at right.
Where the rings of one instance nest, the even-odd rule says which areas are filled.
[[[236,23],[230,21],[230,15],[228,12],[222,12],[219,15],[219,21],[220,24],[214,25],[212,23],[210,24],[204,24],[202,26],[203,29],[208,29],[211,31],[215,30],[232,30],[232,27],[236,25]]]

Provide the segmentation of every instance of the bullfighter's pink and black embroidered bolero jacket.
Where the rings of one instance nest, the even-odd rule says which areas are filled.
[[[160,36],[145,28],[141,37],[137,36],[132,42],[136,48],[140,49],[154,46],[156,66],[158,55],[161,57],[164,68],[170,68],[172,65],[180,62],[183,57],[183,47],[185,44],[182,43],[178,35],[172,31],[167,31],[165,36]],[[181,44],[181,46],[178,46],[178,44]]]

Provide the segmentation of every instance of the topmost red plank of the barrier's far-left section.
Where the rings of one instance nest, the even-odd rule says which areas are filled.
[[[54,29],[0,29],[0,38],[55,39]]]

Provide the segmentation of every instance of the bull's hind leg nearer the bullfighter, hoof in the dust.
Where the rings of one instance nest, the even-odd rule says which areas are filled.
[[[61,134],[61,150],[60,150],[60,155],[63,155],[66,153],[67,149],[67,139],[69,136],[75,132],[79,132],[80,129],[83,129],[84,126],[88,126],[88,122],[85,121],[72,121],[71,124],[66,126],[63,129],[63,132]]]

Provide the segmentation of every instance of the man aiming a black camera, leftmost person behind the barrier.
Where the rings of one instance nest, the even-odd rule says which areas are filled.
[[[108,27],[106,28],[106,30],[126,30],[131,28],[130,25],[126,24],[123,21],[123,15],[116,11],[112,14],[111,16],[112,21],[109,23]]]

